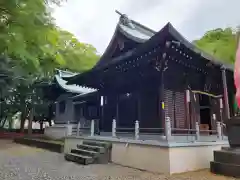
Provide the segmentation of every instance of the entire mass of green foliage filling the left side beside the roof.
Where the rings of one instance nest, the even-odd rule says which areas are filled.
[[[96,49],[78,41],[54,24],[50,4],[61,0],[0,2],[0,106],[1,119],[22,112],[46,111],[38,84],[49,82],[55,68],[82,72],[98,60]],[[44,107],[45,106],[45,107]]]

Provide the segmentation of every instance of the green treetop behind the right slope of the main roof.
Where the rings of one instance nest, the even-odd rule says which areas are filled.
[[[208,31],[194,43],[216,59],[231,64],[235,61],[237,41],[236,32],[232,28]]]

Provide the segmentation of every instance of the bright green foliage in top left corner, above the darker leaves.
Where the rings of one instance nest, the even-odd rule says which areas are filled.
[[[52,0],[19,0],[0,2],[0,52],[37,68],[54,45],[49,31],[54,28],[49,3]],[[52,34],[51,34],[52,36]],[[48,51],[47,51],[47,50]],[[57,59],[56,59],[57,60]]]

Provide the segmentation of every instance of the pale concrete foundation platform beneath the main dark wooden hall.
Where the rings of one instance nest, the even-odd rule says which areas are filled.
[[[64,152],[69,153],[83,140],[111,142],[113,163],[164,174],[210,168],[213,151],[228,146],[227,141],[176,143],[101,136],[68,136],[65,138]]]

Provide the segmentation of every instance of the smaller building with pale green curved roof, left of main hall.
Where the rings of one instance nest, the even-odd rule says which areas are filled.
[[[94,100],[89,96],[88,103],[83,100],[86,94],[95,94],[96,90],[77,85],[67,85],[63,78],[74,75],[76,73],[57,69],[53,83],[48,86],[48,98],[55,101],[54,108],[52,108],[52,111],[55,112],[55,124],[77,124],[82,117],[90,118],[88,106],[91,107],[92,101],[97,96],[94,96]],[[79,97],[81,97],[80,101],[78,101]]]

